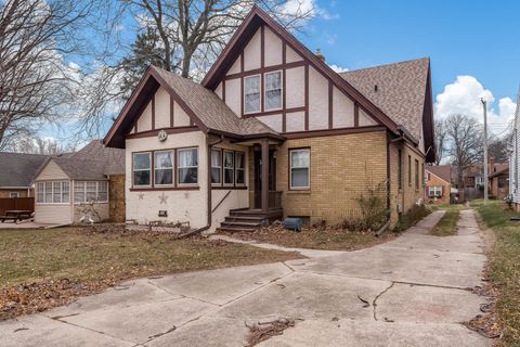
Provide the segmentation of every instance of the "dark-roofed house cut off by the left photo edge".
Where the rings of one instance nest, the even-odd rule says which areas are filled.
[[[32,180],[47,155],[0,152],[0,197],[35,196]]]

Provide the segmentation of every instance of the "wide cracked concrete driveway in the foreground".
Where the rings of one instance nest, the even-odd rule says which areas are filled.
[[[244,346],[246,324],[291,318],[259,346],[487,346],[478,314],[485,257],[472,210],[456,236],[426,235],[286,264],[123,283],[68,307],[0,323],[2,346]]]

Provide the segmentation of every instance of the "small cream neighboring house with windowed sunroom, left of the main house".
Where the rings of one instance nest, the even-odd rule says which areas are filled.
[[[125,221],[125,151],[93,140],[82,150],[50,156],[35,176],[35,221]]]

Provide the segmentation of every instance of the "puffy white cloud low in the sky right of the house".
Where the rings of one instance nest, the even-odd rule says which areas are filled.
[[[446,118],[453,114],[464,114],[483,123],[481,99],[487,102],[487,125],[492,133],[502,134],[515,118],[516,104],[511,98],[498,100],[495,106],[495,97],[485,89],[473,76],[457,76],[457,79],[444,87],[444,91],[437,95],[434,104],[435,118]]]

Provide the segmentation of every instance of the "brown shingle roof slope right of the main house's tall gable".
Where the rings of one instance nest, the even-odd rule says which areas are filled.
[[[340,76],[419,140],[422,138],[428,68],[429,59],[425,57],[350,70]]]

